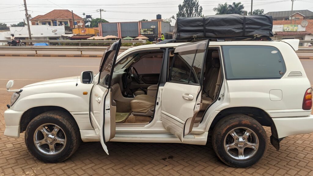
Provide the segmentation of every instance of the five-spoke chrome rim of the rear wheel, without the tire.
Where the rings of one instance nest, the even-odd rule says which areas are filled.
[[[224,139],[226,153],[236,160],[245,160],[253,157],[258,148],[258,136],[246,127],[238,127],[231,130]]]

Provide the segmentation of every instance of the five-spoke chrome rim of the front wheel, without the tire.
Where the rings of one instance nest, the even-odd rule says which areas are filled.
[[[34,133],[33,139],[36,148],[46,155],[60,153],[66,144],[63,129],[52,123],[39,126]]]

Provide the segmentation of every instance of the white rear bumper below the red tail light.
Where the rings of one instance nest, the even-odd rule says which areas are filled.
[[[313,115],[306,117],[272,118],[278,138],[313,132]]]

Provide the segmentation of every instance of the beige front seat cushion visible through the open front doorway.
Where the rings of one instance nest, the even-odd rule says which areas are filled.
[[[152,116],[155,98],[148,95],[138,95],[131,101],[133,115]]]

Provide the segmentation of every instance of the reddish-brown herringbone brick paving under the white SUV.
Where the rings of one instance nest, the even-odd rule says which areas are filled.
[[[62,163],[43,163],[26,148],[24,134],[5,137],[3,112],[10,96],[0,96],[0,176],[9,175],[312,175],[313,134],[281,141],[280,151],[269,144],[264,158],[251,168],[231,168],[206,146],[171,143],[108,142],[106,155],[99,142],[82,143]],[[313,125],[313,124],[312,124]],[[268,137],[270,129],[266,128]]]

